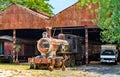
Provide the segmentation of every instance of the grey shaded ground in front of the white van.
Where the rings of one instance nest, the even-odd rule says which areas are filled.
[[[76,70],[82,70],[89,73],[97,73],[98,77],[120,77],[120,63],[114,64],[101,64],[100,62],[92,62],[88,66],[83,65]],[[90,76],[92,77],[92,76]],[[93,76],[97,77],[97,76]]]

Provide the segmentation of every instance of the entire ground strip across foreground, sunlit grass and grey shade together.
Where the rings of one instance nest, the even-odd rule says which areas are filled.
[[[49,70],[29,69],[29,65],[0,64],[0,77],[120,77],[120,63],[100,64],[91,62],[89,65]]]

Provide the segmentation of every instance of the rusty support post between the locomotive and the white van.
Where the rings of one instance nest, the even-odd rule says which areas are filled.
[[[86,65],[88,65],[88,28],[85,26],[85,58]]]

